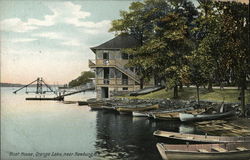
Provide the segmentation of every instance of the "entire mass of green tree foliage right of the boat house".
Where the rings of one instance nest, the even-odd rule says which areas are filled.
[[[141,42],[126,52],[142,78],[161,77],[175,92],[180,84],[229,80],[244,90],[250,75],[248,5],[198,2],[197,8],[187,0],[133,2],[110,31]]]

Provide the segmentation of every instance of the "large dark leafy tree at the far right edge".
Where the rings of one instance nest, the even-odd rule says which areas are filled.
[[[199,2],[201,12],[195,22],[193,53],[207,57],[203,68],[210,72],[210,82],[213,75],[219,83],[225,79],[238,83],[244,114],[246,77],[250,71],[248,6],[236,2]]]

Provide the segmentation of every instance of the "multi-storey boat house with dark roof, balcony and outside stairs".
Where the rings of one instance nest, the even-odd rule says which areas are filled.
[[[130,35],[119,35],[99,46],[92,47],[95,59],[89,67],[96,73],[97,99],[106,99],[140,89],[140,79],[135,68],[126,67],[131,56],[123,49],[139,46],[139,41]],[[144,84],[154,86],[154,78]]]

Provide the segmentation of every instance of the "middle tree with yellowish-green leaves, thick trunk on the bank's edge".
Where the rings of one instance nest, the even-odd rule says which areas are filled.
[[[192,28],[191,22],[197,14],[194,5],[188,1],[170,1],[171,10],[163,17],[158,18],[155,27],[155,35],[152,43],[155,46],[155,54],[159,58],[153,61],[155,71],[167,80],[167,86],[174,88],[174,98],[178,98],[178,85],[187,82],[188,66],[186,56],[191,53],[190,41]],[[158,50],[157,50],[158,48]]]

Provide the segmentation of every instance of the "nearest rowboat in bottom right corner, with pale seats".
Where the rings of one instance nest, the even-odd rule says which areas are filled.
[[[163,160],[249,160],[250,143],[156,144]]]

